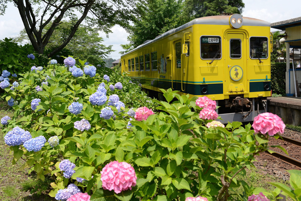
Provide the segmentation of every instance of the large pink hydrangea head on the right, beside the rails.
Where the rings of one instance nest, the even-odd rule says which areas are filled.
[[[273,136],[278,132],[283,133],[285,124],[278,115],[265,112],[254,118],[252,127],[255,132],[268,133],[268,135]]]

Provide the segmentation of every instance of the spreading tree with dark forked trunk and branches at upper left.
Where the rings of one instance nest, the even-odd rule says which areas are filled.
[[[5,13],[8,2],[13,2],[18,8],[29,40],[39,54],[44,53],[55,27],[64,18],[74,21],[70,29],[66,30],[64,42],[49,52],[48,57],[67,46],[83,20],[98,31],[110,33],[110,28],[115,24],[127,29],[128,21],[137,13],[134,8],[135,0],[0,0],[0,14]],[[49,23],[50,28],[43,34]]]

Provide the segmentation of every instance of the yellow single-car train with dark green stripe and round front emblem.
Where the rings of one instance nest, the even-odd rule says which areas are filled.
[[[239,14],[201,17],[121,56],[148,92],[208,96],[223,123],[253,121],[271,96],[270,24]]]

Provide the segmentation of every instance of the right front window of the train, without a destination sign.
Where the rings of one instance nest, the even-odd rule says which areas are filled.
[[[268,58],[267,37],[250,37],[250,58]]]

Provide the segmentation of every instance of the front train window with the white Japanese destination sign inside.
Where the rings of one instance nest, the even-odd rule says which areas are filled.
[[[220,36],[200,37],[200,57],[201,59],[222,58],[222,43]]]

